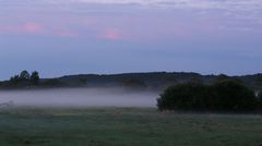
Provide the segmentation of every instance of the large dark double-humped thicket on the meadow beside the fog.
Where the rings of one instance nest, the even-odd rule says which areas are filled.
[[[250,111],[258,106],[254,92],[237,81],[214,85],[195,83],[168,87],[157,99],[159,110]]]

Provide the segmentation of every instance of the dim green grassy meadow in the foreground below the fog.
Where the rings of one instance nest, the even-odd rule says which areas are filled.
[[[156,109],[0,109],[1,146],[262,146],[262,117]]]

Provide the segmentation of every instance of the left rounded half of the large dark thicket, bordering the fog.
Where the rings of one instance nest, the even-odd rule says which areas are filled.
[[[157,99],[159,110],[204,110],[210,88],[203,84],[180,84],[168,87]]]

